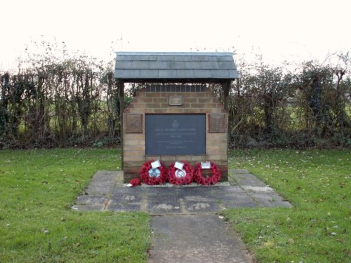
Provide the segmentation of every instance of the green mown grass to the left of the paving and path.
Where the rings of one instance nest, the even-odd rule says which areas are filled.
[[[145,213],[70,208],[96,170],[121,167],[119,149],[0,151],[0,262],[145,262]]]

